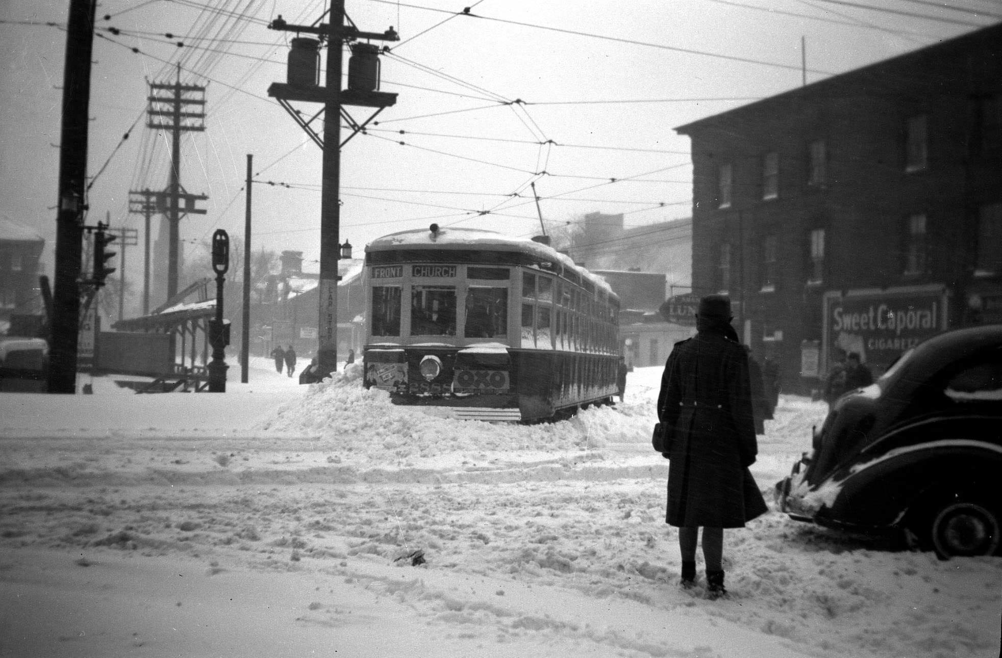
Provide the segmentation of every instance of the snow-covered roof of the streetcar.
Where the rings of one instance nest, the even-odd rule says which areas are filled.
[[[537,242],[528,237],[513,237],[482,228],[440,227],[436,232],[432,232],[428,228],[417,228],[378,237],[366,245],[366,253],[392,251],[401,248],[455,251],[475,248],[479,250],[525,253],[542,261],[559,262],[565,269],[576,272],[582,278],[591,281],[618,299],[618,295],[612,291],[612,287],[604,278],[580,265],[574,264],[574,261],[570,257],[560,253],[552,246]]]

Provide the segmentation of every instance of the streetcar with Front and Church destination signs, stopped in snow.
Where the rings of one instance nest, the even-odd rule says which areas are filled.
[[[619,297],[540,238],[432,224],[365,258],[365,386],[394,404],[529,423],[612,403]]]

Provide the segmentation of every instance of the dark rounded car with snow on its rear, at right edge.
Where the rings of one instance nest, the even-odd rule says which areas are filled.
[[[998,553],[1002,324],[929,339],[843,396],[776,494],[800,521],[903,532],[941,558]]]

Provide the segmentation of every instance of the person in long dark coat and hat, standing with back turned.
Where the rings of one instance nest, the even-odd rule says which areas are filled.
[[[726,593],[723,529],[743,528],[768,509],[747,470],[759,447],[747,355],[734,340],[730,319],[729,297],[700,299],[697,333],[675,344],[657,399],[658,419],[670,437],[664,454],[671,461],[664,520],[678,528],[681,585],[695,584],[701,526],[707,593],[713,598]]]

